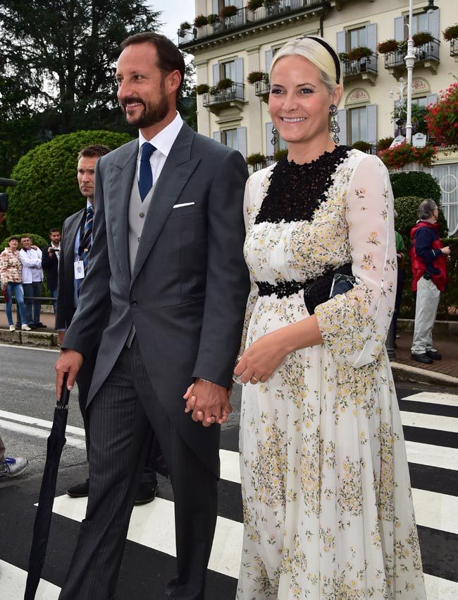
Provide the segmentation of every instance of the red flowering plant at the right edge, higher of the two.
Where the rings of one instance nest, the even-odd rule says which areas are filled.
[[[440,145],[458,145],[458,81],[440,92],[438,102],[428,106],[425,121],[429,136]]]

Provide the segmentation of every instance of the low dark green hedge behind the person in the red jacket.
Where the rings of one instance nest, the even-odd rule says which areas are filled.
[[[458,238],[442,239],[444,246],[450,246],[450,260],[447,260],[448,286],[447,292],[440,294],[438,320],[458,320]],[[409,257],[406,264],[406,282],[402,292],[401,318],[415,317],[414,299],[410,289],[412,273]]]

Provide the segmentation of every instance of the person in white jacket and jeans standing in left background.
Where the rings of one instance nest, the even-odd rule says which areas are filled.
[[[20,244],[23,246],[19,251],[19,258],[23,265],[25,318],[30,328],[43,328],[46,325],[39,320],[42,303],[40,300],[33,300],[42,296],[42,251],[33,244],[29,236],[21,237]]]

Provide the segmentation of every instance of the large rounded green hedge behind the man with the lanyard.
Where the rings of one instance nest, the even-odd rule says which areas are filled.
[[[51,227],[61,228],[66,217],[85,205],[76,179],[81,148],[104,144],[114,150],[130,140],[127,133],[75,131],[27,152],[11,173],[18,186],[8,190],[8,232],[32,229],[48,239]]]

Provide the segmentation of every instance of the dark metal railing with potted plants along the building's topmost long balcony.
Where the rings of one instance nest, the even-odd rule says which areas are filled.
[[[317,6],[327,6],[323,0],[264,0],[263,6],[250,11],[247,6],[237,8],[237,13],[230,17],[218,16],[213,24],[194,27],[192,30],[178,30],[178,47],[192,44],[208,37],[216,37],[224,32],[232,32],[241,28],[249,28],[256,23],[275,20],[291,13],[307,11]]]

